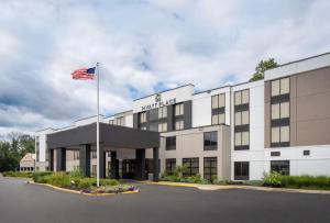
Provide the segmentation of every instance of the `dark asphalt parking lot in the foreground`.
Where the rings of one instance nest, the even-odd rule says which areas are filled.
[[[330,196],[139,185],[86,197],[0,178],[0,222],[330,222]]]

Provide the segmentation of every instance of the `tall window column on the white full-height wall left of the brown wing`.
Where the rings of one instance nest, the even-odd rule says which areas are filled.
[[[250,148],[250,91],[234,92],[234,149]]]

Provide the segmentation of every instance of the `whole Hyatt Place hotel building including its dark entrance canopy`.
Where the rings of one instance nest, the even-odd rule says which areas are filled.
[[[102,177],[157,179],[175,166],[208,180],[330,175],[330,53],[270,69],[263,80],[157,92],[100,121]],[[36,170],[96,175],[95,123],[36,132]]]

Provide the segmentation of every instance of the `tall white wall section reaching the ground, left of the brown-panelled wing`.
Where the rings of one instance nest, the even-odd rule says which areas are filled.
[[[234,121],[231,125],[231,179],[234,179],[234,161],[250,163],[250,179],[263,177],[264,161],[264,81],[248,82],[232,88],[232,120],[234,120],[234,92],[250,90],[250,149],[234,150]]]

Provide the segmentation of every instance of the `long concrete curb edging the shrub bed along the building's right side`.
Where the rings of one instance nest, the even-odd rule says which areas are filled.
[[[295,192],[295,193],[310,193],[310,194],[330,194],[329,190],[305,190],[305,189],[290,189],[290,188],[266,188],[254,186],[217,186],[217,185],[198,185],[198,183],[185,183],[185,182],[152,182],[143,181],[148,185],[169,186],[169,187],[186,187],[197,188],[199,190],[231,190],[231,189],[244,189],[244,190],[260,190],[260,191],[275,191],[275,192]]]

